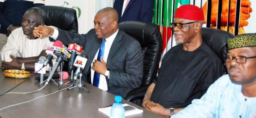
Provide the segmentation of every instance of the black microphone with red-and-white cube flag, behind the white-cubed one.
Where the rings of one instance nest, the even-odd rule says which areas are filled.
[[[68,48],[67,50],[71,52],[71,58],[69,60],[68,63],[68,72],[69,74],[72,76],[72,70],[73,70],[73,63],[74,60],[76,58],[76,54],[80,54],[82,51],[82,46],[77,45],[77,43],[79,43],[79,39],[78,38],[74,38],[73,43],[68,44]]]

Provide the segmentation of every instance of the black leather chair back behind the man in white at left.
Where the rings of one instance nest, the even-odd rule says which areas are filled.
[[[61,6],[37,6],[46,12],[47,26],[55,26],[69,32],[78,33],[76,10]]]

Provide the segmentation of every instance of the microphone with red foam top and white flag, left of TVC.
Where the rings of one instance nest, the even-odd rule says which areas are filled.
[[[61,41],[56,40],[52,46],[48,46],[47,50],[45,51],[48,55],[47,63],[51,61],[53,57],[57,58],[57,56],[53,54],[53,51],[61,49],[62,45],[63,43]]]

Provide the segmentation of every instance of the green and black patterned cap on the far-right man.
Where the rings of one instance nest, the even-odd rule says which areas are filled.
[[[256,46],[256,34],[236,35],[227,40],[227,49]]]

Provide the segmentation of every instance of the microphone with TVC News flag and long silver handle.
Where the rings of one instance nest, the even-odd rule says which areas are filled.
[[[62,62],[62,60],[69,60],[71,54],[64,48],[61,48],[59,50],[54,50],[53,51],[53,54],[58,56],[58,58],[56,59],[56,63],[55,65],[53,66],[52,68],[52,71],[50,72],[48,78],[47,78],[47,81],[46,81],[46,85],[49,83],[50,79],[52,78],[54,72],[56,71],[56,69],[58,68],[59,64]]]

